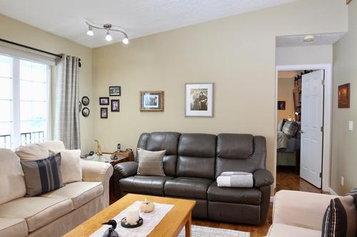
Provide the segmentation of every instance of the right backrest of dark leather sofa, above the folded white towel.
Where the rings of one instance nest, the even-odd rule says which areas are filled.
[[[266,139],[243,134],[217,136],[216,177],[222,172],[266,169]]]

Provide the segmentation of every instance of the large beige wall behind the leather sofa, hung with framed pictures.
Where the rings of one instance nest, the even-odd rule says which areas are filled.
[[[303,16],[303,17],[291,17]],[[94,100],[121,85],[121,112],[99,118],[104,150],[135,148],[141,132],[239,132],[267,139],[275,172],[275,38],[347,30],[343,1],[301,0],[248,14],[114,43],[93,51]],[[184,117],[185,83],[215,83],[213,118]],[[164,90],[165,112],[139,112],[140,90]]]

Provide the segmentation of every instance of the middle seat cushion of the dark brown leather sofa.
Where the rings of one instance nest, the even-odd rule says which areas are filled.
[[[166,181],[164,187],[165,196],[178,196],[188,199],[207,199],[208,186],[211,179],[193,177],[178,177]]]

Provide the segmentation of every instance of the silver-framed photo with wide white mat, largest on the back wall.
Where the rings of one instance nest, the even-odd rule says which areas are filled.
[[[213,117],[213,83],[186,83],[186,117]]]

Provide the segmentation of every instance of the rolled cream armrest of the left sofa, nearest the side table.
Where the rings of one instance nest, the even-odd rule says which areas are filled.
[[[101,182],[104,187],[104,206],[109,206],[109,180],[113,167],[109,163],[81,160],[82,181]]]

